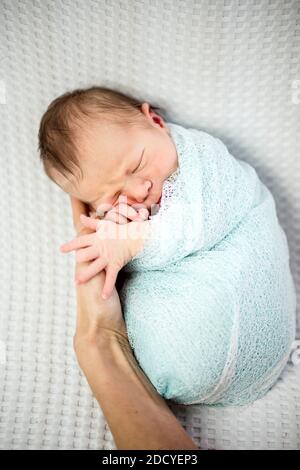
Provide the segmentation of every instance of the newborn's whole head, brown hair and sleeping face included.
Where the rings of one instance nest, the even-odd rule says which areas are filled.
[[[46,174],[90,210],[113,206],[120,194],[129,205],[151,209],[178,165],[170,131],[154,108],[103,87],[59,96],[40,123]]]

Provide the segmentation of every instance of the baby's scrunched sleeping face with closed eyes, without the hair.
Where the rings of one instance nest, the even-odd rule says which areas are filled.
[[[177,169],[178,157],[162,118],[149,113],[147,103],[142,109],[149,130],[92,123],[79,143],[83,178],[66,179],[53,169],[57,184],[91,210],[115,205],[121,194],[129,205],[151,210],[158,204],[164,181]]]

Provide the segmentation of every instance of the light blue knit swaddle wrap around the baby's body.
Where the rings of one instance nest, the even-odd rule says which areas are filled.
[[[179,167],[120,290],[134,354],[176,403],[243,405],[283,370],[296,293],[272,194],[221,140],[167,123]]]

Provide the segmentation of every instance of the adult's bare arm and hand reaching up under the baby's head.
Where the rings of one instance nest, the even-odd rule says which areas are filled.
[[[80,222],[87,207],[72,198],[77,234],[89,233]],[[77,262],[76,273],[89,263]],[[76,286],[77,326],[74,348],[118,449],[189,449],[198,447],[138,366],[128,342],[119,296],[114,288],[101,297],[103,271]]]

